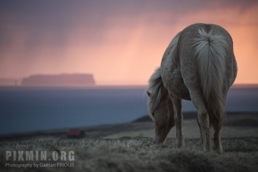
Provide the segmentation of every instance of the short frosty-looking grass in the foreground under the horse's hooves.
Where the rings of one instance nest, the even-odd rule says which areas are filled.
[[[224,153],[202,153],[199,139],[185,139],[187,148],[174,149],[175,139],[155,145],[152,138],[120,139],[37,139],[1,142],[1,171],[258,171],[258,138],[222,138]],[[43,163],[74,163],[74,167],[5,167],[5,163],[36,163],[41,161],[6,161],[5,151],[72,150],[74,161],[44,161]],[[35,156],[35,155],[34,155]],[[25,155],[24,155],[25,157]],[[18,157],[17,157],[18,158]]]

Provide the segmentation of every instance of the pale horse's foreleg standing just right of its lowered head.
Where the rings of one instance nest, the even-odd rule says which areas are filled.
[[[182,100],[174,96],[171,96],[171,100],[174,106],[174,119],[175,119],[175,126],[176,126],[175,148],[184,147],[185,141],[182,134],[182,123],[183,123]]]

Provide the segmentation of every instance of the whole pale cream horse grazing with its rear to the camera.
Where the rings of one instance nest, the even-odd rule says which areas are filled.
[[[154,143],[166,141],[176,126],[175,147],[184,147],[182,100],[191,100],[198,111],[200,149],[223,152],[220,131],[226,120],[224,107],[237,65],[230,34],[215,24],[192,24],[179,32],[167,47],[161,66],[149,79],[148,112],[155,121]]]

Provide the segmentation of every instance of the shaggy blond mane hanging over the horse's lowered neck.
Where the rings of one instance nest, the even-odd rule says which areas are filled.
[[[148,83],[149,85],[145,91],[151,93],[148,99],[148,110],[150,117],[153,118],[151,113],[154,112],[154,110],[159,106],[159,103],[161,101],[161,89],[163,81],[161,78],[160,67],[157,67],[155,69],[154,73],[150,76]]]

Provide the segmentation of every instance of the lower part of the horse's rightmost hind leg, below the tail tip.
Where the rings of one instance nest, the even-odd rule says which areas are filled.
[[[222,144],[221,144],[221,128],[222,128],[222,113],[225,113],[225,111],[217,111],[216,112],[216,117],[214,118],[212,125],[214,128],[214,150],[217,153],[222,153],[223,152],[223,148],[222,148]]]

